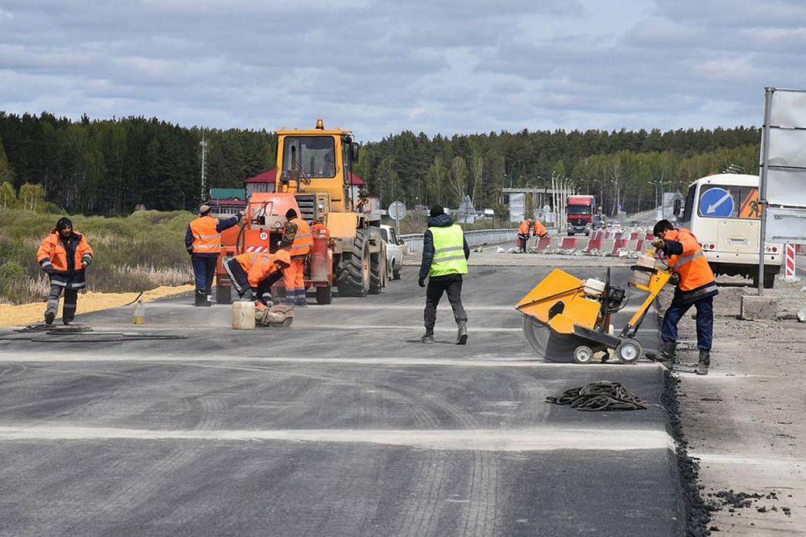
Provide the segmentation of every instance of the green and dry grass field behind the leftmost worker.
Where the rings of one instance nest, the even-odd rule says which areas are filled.
[[[36,250],[60,217],[0,209],[0,302],[37,302],[48,293]],[[193,281],[185,251],[189,212],[137,211],[127,217],[70,216],[95,252],[87,269],[89,289],[121,293]]]

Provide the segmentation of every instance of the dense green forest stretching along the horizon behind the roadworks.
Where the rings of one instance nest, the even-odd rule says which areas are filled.
[[[193,210],[202,201],[202,132],[207,188],[240,188],[274,167],[270,131],[0,111],[0,207],[108,215],[129,214],[139,204]],[[468,195],[477,210],[503,214],[501,189],[550,188],[551,177],[559,177],[580,194],[596,194],[606,214],[616,211],[617,200],[634,213],[654,206],[658,183],[683,190],[729,167],[758,173],[759,142],[756,127],[451,137],[402,131],[362,144],[354,172],[383,206],[399,199],[455,207]]]

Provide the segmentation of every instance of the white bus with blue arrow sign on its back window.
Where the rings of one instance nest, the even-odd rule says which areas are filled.
[[[683,214],[679,213],[678,204],[679,226],[700,241],[714,273],[741,275],[758,285],[758,176],[719,173],[697,179],[688,187]],[[764,252],[764,287],[771,288],[781,269],[783,244],[767,243]]]

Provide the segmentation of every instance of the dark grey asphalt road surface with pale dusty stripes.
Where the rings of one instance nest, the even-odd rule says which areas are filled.
[[[536,359],[513,305],[549,270],[472,267],[464,347],[447,299],[419,343],[413,267],[288,329],[233,331],[229,306],[187,297],[147,304],[143,327],[79,298],[93,332],[4,330],[0,534],[681,535],[662,408],[545,402],[599,380],[663,391],[645,360]],[[656,343],[653,315],[640,334]]]

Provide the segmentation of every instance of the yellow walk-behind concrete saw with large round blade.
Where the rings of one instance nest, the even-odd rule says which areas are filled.
[[[622,363],[637,362],[643,349],[634,339],[635,333],[663,286],[677,275],[660,266],[650,252],[644,252],[632,269],[628,285],[647,294],[618,335],[613,333],[610,318],[626,306],[627,297],[625,289],[610,283],[610,269],[606,281],[583,281],[553,270],[515,306],[524,314],[523,331],[530,346],[554,362],[587,364],[602,351],[602,361],[607,361],[609,349]]]

